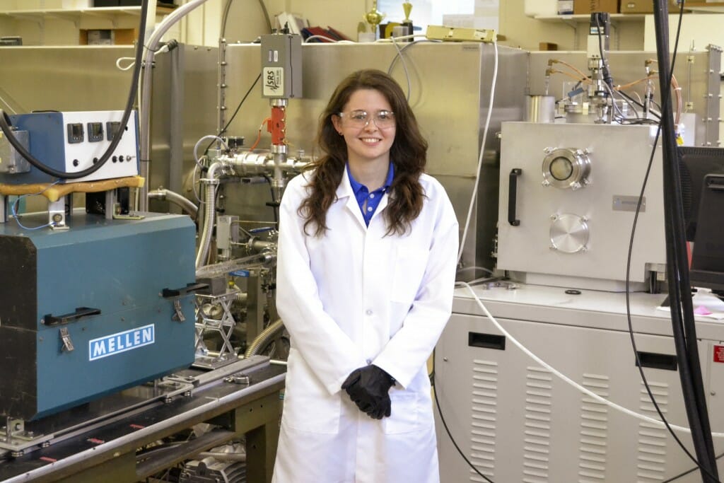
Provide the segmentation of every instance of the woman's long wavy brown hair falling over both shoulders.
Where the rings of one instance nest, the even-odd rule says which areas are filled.
[[[422,210],[424,193],[420,174],[427,162],[427,141],[420,134],[405,93],[395,80],[381,70],[358,70],[349,75],[334,90],[327,108],[319,117],[316,148],[323,153],[308,165],[313,169],[308,198],[299,207],[300,217],[306,221],[304,230],[313,227],[316,236],[324,235],[327,227],[327,210],[337,201],[337,187],[342,182],[347,163],[347,143],[332,124],[332,116],[344,111],[355,91],[374,89],[387,98],[395,113],[395,140],[390,148],[390,161],[395,166],[395,179],[388,192],[390,197],[384,209],[387,235],[403,235]]]

